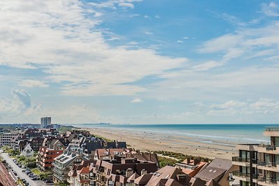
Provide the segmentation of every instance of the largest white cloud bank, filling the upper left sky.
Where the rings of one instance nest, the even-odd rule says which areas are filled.
[[[140,1],[90,4],[112,8],[135,2]],[[61,84],[62,94],[134,95],[146,89],[126,83],[161,75],[187,61],[160,56],[155,49],[112,47],[107,44],[110,39],[98,28],[102,22],[96,17],[99,11],[87,10],[84,3],[77,0],[0,1],[0,33],[5,33],[5,36],[0,34],[0,64],[43,70],[45,84],[32,82],[32,86],[57,82]],[[146,31],[146,34],[152,33]],[[27,83],[22,85],[28,86]]]

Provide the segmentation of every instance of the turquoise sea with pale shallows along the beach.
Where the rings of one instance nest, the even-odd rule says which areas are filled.
[[[103,128],[121,132],[145,133],[160,136],[192,137],[205,144],[268,144],[263,132],[279,124],[72,124],[75,127]],[[218,142],[219,141],[219,142]],[[221,142],[224,144],[224,142]]]

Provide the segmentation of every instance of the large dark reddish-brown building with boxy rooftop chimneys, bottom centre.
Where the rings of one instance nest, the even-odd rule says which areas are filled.
[[[97,160],[90,172],[91,185],[130,185],[135,177],[153,173],[158,167],[153,162],[142,162],[136,158],[114,157],[112,160]],[[129,179],[130,178],[130,179]],[[133,183],[134,185],[134,183]]]

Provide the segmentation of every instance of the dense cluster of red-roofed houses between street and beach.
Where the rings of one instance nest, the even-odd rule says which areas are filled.
[[[105,141],[89,132],[27,129],[10,139],[22,155],[38,151],[36,163],[52,171],[55,183],[86,185],[229,186],[236,165],[231,160],[211,163],[187,158],[176,166],[160,167],[155,153],[127,148],[125,141]]]

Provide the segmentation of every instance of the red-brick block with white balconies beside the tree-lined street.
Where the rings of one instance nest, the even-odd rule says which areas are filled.
[[[45,141],[47,141],[45,139]],[[59,139],[52,139],[52,143],[49,147],[47,146],[41,146],[40,150],[38,151],[37,155],[37,165],[42,169],[43,171],[46,170],[52,170],[54,162],[54,158],[58,157],[59,155],[63,154],[63,150],[66,148],[66,146],[63,145]]]

